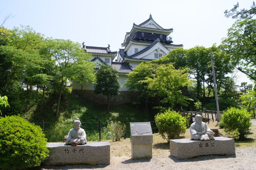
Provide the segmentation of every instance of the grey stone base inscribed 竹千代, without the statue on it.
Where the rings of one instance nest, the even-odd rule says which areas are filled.
[[[44,161],[46,165],[110,164],[109,142],[89,142],[77,146],[54,142],[47,146],[50,154]]]

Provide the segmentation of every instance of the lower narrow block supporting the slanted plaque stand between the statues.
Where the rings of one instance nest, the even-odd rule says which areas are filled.
[[[132,159],[152,158],[152,144],[132,144]]]

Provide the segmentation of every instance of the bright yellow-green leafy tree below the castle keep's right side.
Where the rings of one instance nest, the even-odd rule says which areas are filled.
[[[175,69],[172,64],[160,65],[156,68],[155,77],[147,77],[148,89],[156,91],[162,97],[162,103],[186,106],[192,99],[182,95],[181,88],[190,84],[187,69]]]

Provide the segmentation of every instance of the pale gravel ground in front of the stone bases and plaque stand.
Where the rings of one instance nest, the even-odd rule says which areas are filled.
[[[110,165],[66,165],[66,166],[48,166],[42,167],[41,170],[84,170],[84,169],[236,169],[236,170],[256,170],[256,147],[238,147],[236,156],[198,156],[196,158],[177,160],[176,158],[166,155],[153,157],[152,159],[132,160],[126,156],[112,156]]]

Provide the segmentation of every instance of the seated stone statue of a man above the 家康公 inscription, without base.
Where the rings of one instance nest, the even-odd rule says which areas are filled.
[[[214,140],[214,132],[202,122],[202,116],[196,115],[195,122],[190,126],[191,140]]]

